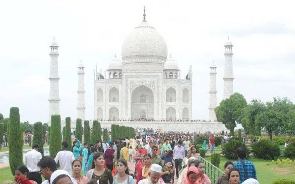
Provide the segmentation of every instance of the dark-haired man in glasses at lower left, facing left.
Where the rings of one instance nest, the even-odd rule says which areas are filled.
[[[45,179],[42,184],[50,184],[48,180],[50,180],[52,173],[57,170],[55,160],[50,156],[42,157],[38,162],[38,167],[40,168],[40,174]]]

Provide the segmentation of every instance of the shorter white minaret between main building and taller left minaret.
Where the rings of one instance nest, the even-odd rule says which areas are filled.
[[[82,60],[78,66],[78,106],[77,106],[77,118],[85,120],[85,89],[84,89],[84,65]]]

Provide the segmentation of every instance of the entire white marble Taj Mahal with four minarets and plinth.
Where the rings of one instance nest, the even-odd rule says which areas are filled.
[[[224,44],[224,98],[233,94],[232,47],[228,39]],[[192,66],[188,66],[188,71],[180,71],[173,55],[167,52],[164,38],[146,21],[145,11],[143,21],[124,39],[121,52],[122,59],[115,55],[104,74],[97,70],[97,66],[94,72],[94,120],[98,120],[101,127],[119,124],[200,133],[227,130],[217,122],[214,112],[217,106],[217,67],[214,63],[208,66],[209,120],[191,120],[194,113]],[[53,40],[50,44],[49,117],[60,114],[58,55],[58,44]],[[86,110],[84,69],[81,62],[78,65],[77,118],[82,120],[85,120]],[[187,73],[183,79],[181,72]],[[75,124],[72,121],[71,127]],[[62,122],[63,126],[65,122]]]

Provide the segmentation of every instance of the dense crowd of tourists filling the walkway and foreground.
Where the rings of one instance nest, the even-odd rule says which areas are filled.
[[[135,133],[130,139],[98,140],[89,145],[77,139],[73,145],[64,141],[55,158],[42,157],[39,146],[33,145],[24,156],[24,165],[15,171],[15,183],[211,184],[193,142],[200,135],[138,128]],[[206,136],[209,143],[204,140],[202,147],[210,145],[214,152],[215,135]],[[258,183],[255,166],[245,160],[246,150],[238,148],[237,155],[239,160],[225,163],[225,175],[216,184]],[[131,162],[135,164],[132,173],[128,168]]]

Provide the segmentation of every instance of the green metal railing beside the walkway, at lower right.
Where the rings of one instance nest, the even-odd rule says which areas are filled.
[[[208,160],[200,156],[200,161],[204,162],[205,165],[205,174],[210,178],[212,183],[215,183],[219,176],[224,175],[225,173],[217,168],[215,165],[210,163]]]

